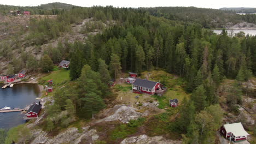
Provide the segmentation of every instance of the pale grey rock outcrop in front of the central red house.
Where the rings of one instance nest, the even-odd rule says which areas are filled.
[[[110,122],[110,121],[121,121],[123,123],[129,123],[131,119],[137,119],[142,117],[142,113],[137,112],[138,109],[129,106],[115,105],[113,108],[104,110],[99,117],[104,117],[97,121]]]

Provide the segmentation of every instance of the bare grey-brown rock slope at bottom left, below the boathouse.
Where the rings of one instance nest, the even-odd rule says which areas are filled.
[[[78,144],[82,140],[86,142],[93,143],[98,139],[97,130],[89,129],[90,127],[84,127],[83,132],[79,133],[77,128],[69,128],[63,133],[55,137],[48,137],[47,133],[43,130],[33,131],[33,137],[36,137],[31,144],[61,144],[61,143],[74,143]]]

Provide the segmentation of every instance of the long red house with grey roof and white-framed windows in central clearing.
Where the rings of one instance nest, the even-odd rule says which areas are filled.
[[[162,94],[166,88],[159,82],[136,79],[132,83],[132,91],[134,93],[147,93],[147,94]]]

